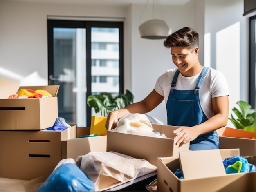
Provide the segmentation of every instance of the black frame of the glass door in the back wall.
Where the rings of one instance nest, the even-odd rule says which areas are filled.
[[[48,84],[52,85],[52,80],[49,78],[54,74],[54,40],[53,29],[56,27],[63,28],[85,28],[86,29],[86,98],[92,94],[92,75],[91,75],[91,28],[119,28],[119,92],[124,94],[124,22],[120,21],[83,21],[83,20],[47,20],[47,42],[48,42]],[[90,127],[92,116],[92,108],[86,105],[86,124]]]

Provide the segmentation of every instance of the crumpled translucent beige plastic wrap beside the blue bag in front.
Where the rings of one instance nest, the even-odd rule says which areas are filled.
[[[95,185],[101,182],[99,176],[108,176],[125,183],[157,170],[156,166],[145,159],[136,159],[117,152],[89,152],[77,157],[75,161]]]

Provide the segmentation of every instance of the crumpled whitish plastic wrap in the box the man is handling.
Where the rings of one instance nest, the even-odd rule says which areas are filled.
[[[119,123],[113,132],[136,134],[150,137],[167,138],[164,134],[155,132],[145,114],[128,113],[119,119]]]

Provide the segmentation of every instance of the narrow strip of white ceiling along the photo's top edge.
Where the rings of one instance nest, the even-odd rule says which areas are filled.
[[[16,2],[44,2],[63,4],[108,4],[108,5],[129,5],[129,4],[152,4],[153,0],[5,0]],[[157,1],[157,0],[155,0]],[[184,5],[191,0],[158,0],[161,5]]]

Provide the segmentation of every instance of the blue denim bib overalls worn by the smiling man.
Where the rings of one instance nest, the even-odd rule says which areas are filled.
[[[208,120],[202,110],[199,98],[199,89],[208,70],[209,67],[203,67],[193,90],[176,90],[177,77],[180,71],[175,72],[166,103],[168,125],[192,127]],[[190,150],[218,148],[219,137],[216,131],[198,136],[195,140],[190,141],[189,147]]]

